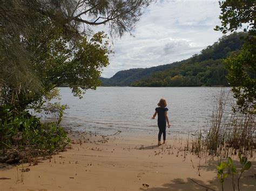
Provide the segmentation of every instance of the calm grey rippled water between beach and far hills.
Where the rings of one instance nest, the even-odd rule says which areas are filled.
[[[158,130],[157,119],[152,120],[151,116],[159,99],[164,97],[171,132],[206,130],[220,91],[219,87],[98,87],[88,90],[79,100],[69,88],[60,88],[62,103],[70,107],[62,124],[73,130],[97,133],[154,132]],[[231,105],[233,98],[231,94],[229,97]]]

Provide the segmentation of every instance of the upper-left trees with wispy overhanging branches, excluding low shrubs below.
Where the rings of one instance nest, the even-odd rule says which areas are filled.
[[[111,36],[122,36],[151,2],[1,0],[2,103],[23,109],[63,83],[79,96],[80,88],[95,89],[111,51],[106,36],[93,35],[92,27],[109,25]]]

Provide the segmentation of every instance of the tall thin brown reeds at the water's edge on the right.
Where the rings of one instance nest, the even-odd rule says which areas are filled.
[[[227,158],[238,152],[253,157],[256,148],[255,115],[253,112],[226,115],[227,97],[221,90],[209,130],[205,135],[199,131],[192,138],[191,151],[198,157],[207,154]]]

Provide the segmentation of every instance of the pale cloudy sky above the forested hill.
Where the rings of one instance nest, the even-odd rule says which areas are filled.
[[[222,36],[218,1],[162,0],[144,10],[133,32],[113,39],[110,65],[102,76],[120,70],[147,68],[190,58]]]

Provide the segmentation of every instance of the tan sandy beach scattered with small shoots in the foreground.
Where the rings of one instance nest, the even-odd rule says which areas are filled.
[[[157,135],[70,136],[71,148],[50,159],[1,168],[0,178],[8,179],[0,180],[0,190],[221,190],[217,160],[183,151],[182,136],[169,135],[161,146]],[[256,161],[250,160],[240,190],[256,190]],[[224,190],[233,190],[231,176]]]

